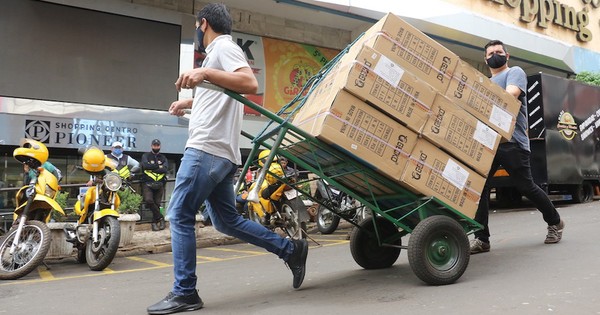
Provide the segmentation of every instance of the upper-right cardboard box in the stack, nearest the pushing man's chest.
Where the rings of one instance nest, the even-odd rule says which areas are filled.
[[[445,94],[502,137],[512,138],[521,102],[468,63],[458,62]]]

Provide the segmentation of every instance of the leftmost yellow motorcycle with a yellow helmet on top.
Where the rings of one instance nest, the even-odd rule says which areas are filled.
[[[24,139],[13,157],[27,165],[33,176],[16,194],[14,221],[0,239],[0,279],[26,276],[43,263],[50,249],[52,212],[65,215],[55,201],[60,190],[58,178],[48,170],[48,148],[35,140]]]

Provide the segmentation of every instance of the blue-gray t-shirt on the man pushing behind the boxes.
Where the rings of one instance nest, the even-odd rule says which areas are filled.
[[[529,137],[527,136],[527,129],[529,127],[527,123],[527,76],[525,75],[525,71],[520,67],[509,67],[493,76],[491,80],[503,89],[506,89],[509,85],[514,85],[521,89],[521,95],[519,96],[521,109],[519,110],[515,132],[510,142],[517,143],[524,150],[531,152],[529,149]]]

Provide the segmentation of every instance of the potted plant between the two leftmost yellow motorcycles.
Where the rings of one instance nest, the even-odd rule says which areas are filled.
[[[50,250],[46,254],[47,258],[64,258],[71,256],[73,253],[73,243],[67,242],[64,232],[65,225],[69,224],[65,222],[67,219],[68,197],[68,192],[59,191],[54,199],[63,209],[65,215],[60,214],[58,211],[52,211],[52,221],[48,223],[52,243],[50,243]]]

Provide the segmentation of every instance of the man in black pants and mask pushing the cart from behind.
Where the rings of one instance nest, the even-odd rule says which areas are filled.
[[[548,233],[545,244],[555,244],[562,239],[565,222],[560,218],[558,211],[548,198],[548,195],[533,182],[529,156],[529,137],[527,136],[527,76],[520,67],[509,67],[510,54],[504,44],[499,40],[490,41],[485,45],[485,62],[492,73],[491,80],[504,88],[521,102],[521,109],[513,137],[510,141],[501,143],[492,162],[488,180],[492,178],[498,167],[502,165],[510,174],[517,190],[542,213],[544,221],[548,224]],[[475,214],[475,221],[484,226],[481,231],[475,232],[475,239],[471,241],[471,254],[490,251],[489,217],[489,183],[486,183],[479,207]]]

